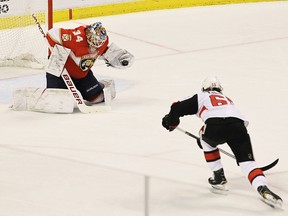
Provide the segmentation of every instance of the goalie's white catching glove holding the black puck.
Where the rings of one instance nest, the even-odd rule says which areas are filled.
[[[107,51],[102,55],[107,66],[118,69],[130,67],[134,62],[134,56],[127,50],[120,49],[116,44],[112,43]]]

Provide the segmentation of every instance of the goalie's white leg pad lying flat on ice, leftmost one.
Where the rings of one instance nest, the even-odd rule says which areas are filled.
[[[72,113],[74,101],[67,89],[19,88],[13,91],[12,109],[45,113]]]

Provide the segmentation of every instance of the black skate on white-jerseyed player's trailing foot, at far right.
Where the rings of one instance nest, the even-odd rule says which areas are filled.
[[[263,198],[263,201],[272,208],[282,208],[282,199],[275,193],[269,190],[266,185],[261,185],[257,188],[258,193]]]

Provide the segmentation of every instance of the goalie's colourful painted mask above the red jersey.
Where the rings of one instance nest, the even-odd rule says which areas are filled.
[[[86,37],[90,47],[99,48],[107,40],[106,29],[101,22],[93,23],[86,29]]]

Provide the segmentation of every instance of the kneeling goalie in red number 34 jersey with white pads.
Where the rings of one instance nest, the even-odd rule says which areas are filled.
[[[64,68],[86,104],[106,104],[115,98],[114,81],[98,81],[91,68],[97,59],[114,68],[129,68],[134,56],[114,43],[108,46],[109,37],[101,22],[74,29],[52,28],[47,32],[46,39],[53,49],[46,67],[47,88],[16,89],[13,92],[14,110],[73,112],[74,102],[67,90],[67,82],[60,76]]]

